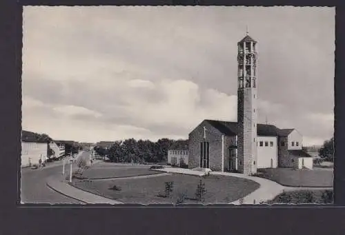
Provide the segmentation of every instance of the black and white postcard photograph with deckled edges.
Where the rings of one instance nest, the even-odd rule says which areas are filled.
[[[24,6],[21,204],[333,204],[335,8]]]

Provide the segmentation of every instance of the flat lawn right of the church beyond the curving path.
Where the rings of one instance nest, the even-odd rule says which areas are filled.
[[[260,169],[256,176],[290,187],[333,187],[331,170]]]

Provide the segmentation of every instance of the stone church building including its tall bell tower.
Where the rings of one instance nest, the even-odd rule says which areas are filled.
[[[295,129],[257,123],[257,41],[237,43],[237,122],[204,120],[188,137],[189,168],[255,174],[258,168],[313,168]]]

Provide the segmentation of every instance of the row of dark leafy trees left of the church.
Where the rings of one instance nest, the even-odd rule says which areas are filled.
[[[116,141],[109,148],[95,147],[95,151],[115,163],[158,163],[167,161],[168,149],[176,142],[166,138],[157,142],[126,139]]]

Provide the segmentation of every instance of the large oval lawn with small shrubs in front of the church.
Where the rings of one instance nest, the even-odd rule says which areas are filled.
[[[119,200],[123,203],[199,203],[195,192],[199,176],[170,174],[150,178],[122,178],[107,181],[75,181],[73,185],[82,190]],[[201,177],[205,184],[204,203],[231,203],[259,188],[259,184],[244,178],[231,176]],[[173,182],[169,197],[165,197],[166,182]],[[117,190],[110,190],[116,185]]]

